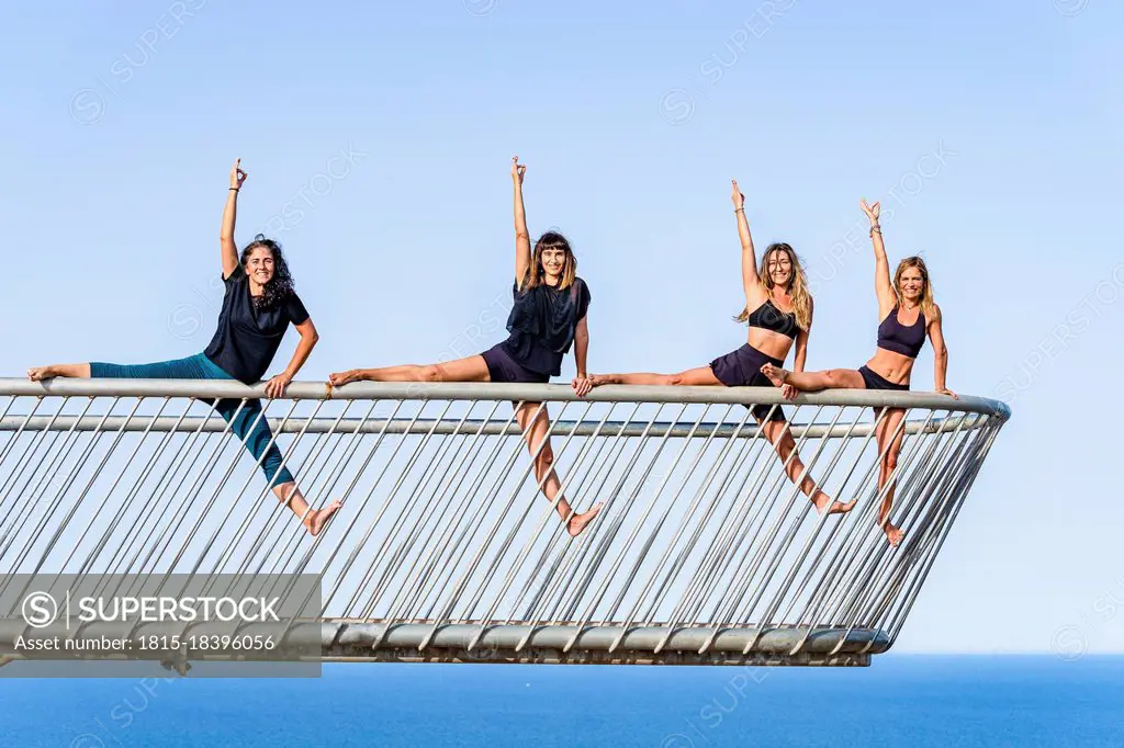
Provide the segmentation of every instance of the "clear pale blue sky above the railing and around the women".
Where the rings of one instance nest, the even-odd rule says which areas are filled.
[[[808,366],[858,366],[859,199],[881,200],[891,259],[930,263],[950,386],[1015,413],[899,649],[1122,651],[1122,21],[1108,0],[20,3],[2,370],[202,349],[236,156],[239,243],[270,227],[321,332],[301,378],[499,339],[472,326],[509,293],[515,153],[532,232],[562,228],[592,291],[595,372],[744,341],[731,177],[815,282]]]

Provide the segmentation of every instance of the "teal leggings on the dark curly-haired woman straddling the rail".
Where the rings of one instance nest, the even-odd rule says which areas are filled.
[[[90,363],[90,376],[94,378],[116,380],[233,380],[234,377],[223,371],[218,364],[203,354],[196,354],[189,358],[176,358],[175,361],[162,361],[155,364],[103,364],[101,362]],[[262,460],[262,471],[270,486],[292,483],[292,473],[288,467],[281,467],[281,450],[277,444],[270,444],[273,438],[270,426],[265,418],[259,418],[262,412],[261,400],[247,400],[246,404],[238,410],[241,400],[223,398],[218,402],[209,398],[199,398],[209,405],[214,405],[227,422],[230,430],[238,435],[238,438],[246,445],[246,449]],[[237,416],[235,416],[237,413]],[[230,419],[234,421],[230,421]],[[269,448],[266,449],[266,445]]]

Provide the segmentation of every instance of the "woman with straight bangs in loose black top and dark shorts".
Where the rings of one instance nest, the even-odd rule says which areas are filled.
[[[570,243],[556,231],[546,231],[531,249],[527,218],[523,206],[523,176],[526,166],[519,157],[511,159],[515,182],[515,305],[507,320],[510,337],[482,354],[442,364],[405,364],[382,368],[353,368],[332,374],[329,383],[341,386],[350,382],[550,382],[562,372],[562,357],[577,343],[574,357],[578,376],[572,386],[579,395],[589,392],[586,354],[589,350],[589,288],[578,277],[578,261]],[[537,416],[536,416],[537,412]],[[561,484],[554,471],[554,453],[547,435],[550,418],[546,405],[524,402],[516,411],[519,427],[526,435],[527,448],[535,457],[535,475],[543,493],[555,507],[566,531],[580,533],[601,510],[597,504],[587,512],[574,513],[560,495]],[[532,419],[533,422],[532,422]],[[540,446],[542,447],[540,449]]]

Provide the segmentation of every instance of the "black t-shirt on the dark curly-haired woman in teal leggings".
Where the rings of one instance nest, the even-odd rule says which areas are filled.
[[[218,329],[203,355],[234,378],[253,384],[270,367],[289,322],[300,325],[308,319],[308,310],[296,292],[270,309],[255,309],[242,265],[223,281],[226,295]]]

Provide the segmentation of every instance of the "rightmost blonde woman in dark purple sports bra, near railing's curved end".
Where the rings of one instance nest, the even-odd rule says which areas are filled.
[[[874,245],[874,293],[878,295],[878,350],[874,357],[859,370],[832,368],[825,372],[787,372],[772,363],[761,367],[761,372],[779,387],[800,392],[817,392],[828,389],[850,390],[909,390],[914,361],[925,345],[925,336],[933,341],[936,371],[936,391],[955,398],[944,384],[949,372],[949,349],[944,345],[941,328],[941,308],[933,301],[933,285],[928,280],[928,268],[921,257],[906,257],[898,263],[898,270],[890,281],[890,264],[882,244],[882,229],[878,225],[881,211],[879,203],[868,206],[862,201],[862,210],[870,219],[870,238]],[[789,396],[786,394],[786,396]],[[882,455],[878,476],[881,491],[898,464],[904,434],[898,434],[898,425],[906,411],[890,408],[874,430],[878,451]],[[887,441],[890,441],[887,448]],[[886,492],[878,512],[878,524],[886,531],[890,545],[901,542],[903,532],[890,522],[894,505],[894,486]]]

